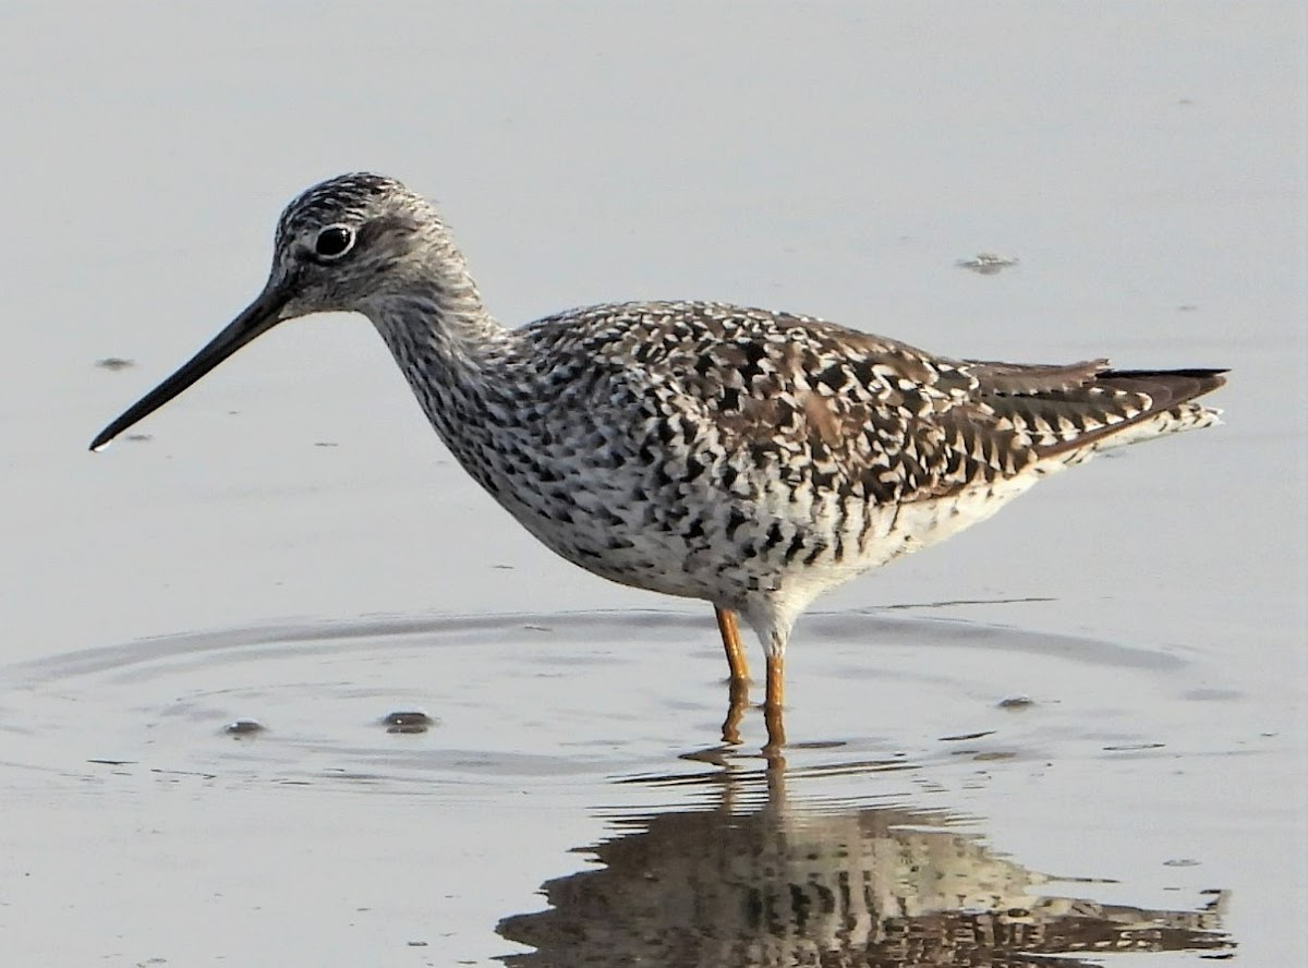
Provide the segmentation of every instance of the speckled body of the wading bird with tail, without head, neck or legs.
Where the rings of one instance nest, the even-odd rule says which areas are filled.
[[[769,629],[1052,470],[1213,423],[1190,399],[1222,383],[950,360],[708,302],[593,306],[510,332],[497,369],[515,379],[480,400],[447,383],[424,398],[463,464],[565,559],[761,611]],[[475,407],[496,432],[451,420]]]

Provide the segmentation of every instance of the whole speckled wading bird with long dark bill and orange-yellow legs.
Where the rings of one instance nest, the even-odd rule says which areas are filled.
[[[290,203],[259,297],[105,428],[99,449],[273,326],[371,319],[454,457],[560,556],[717,611],[735,723],[766,659],[785,742],[791,627],[855,574],[990,517],[1100,450],[1218,420],[1223,370],[952,360],[791,313],[624,302],[506,328],[422,198],[349,174]]]

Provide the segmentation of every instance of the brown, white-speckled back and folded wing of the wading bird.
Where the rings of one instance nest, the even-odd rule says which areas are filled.
[[[561,413],[621,415],[634,437],[721,447],[764,474],[808,467],[882,501],[1019,474],[1046,442],[1035,430],[1053,433],[1028,411],[1092,396],[1107,366],[955,360],[719,302],[587,306],[519,332],[543,381],[538,399]],[[1078,426],[1067,423],[1067,434]]]

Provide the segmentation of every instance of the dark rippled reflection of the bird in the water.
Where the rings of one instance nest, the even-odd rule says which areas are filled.
[[[1100,961],[1078,955],[1235,947],[1220,891],[1198,910],[1058,896],[944,812],[791,806],[780,769],[710,782],[712,806],[621,820],[586,849],[602,867],[547,882],[549,910],[501,921],[536,948],[504,963],[1082,968]]]

